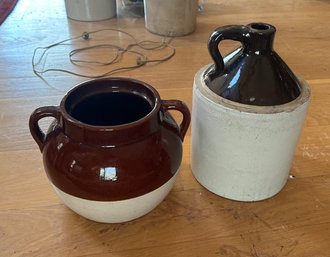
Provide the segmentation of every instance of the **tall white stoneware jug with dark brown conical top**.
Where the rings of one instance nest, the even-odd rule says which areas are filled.
[[[252,23],[216,29],[214,64],[195,76],[191,168],[211,192],[258,201],[286,184],[310,100],[307,83],[273,50],[275,27]],[[223,40],[241,47],[225,58]]]

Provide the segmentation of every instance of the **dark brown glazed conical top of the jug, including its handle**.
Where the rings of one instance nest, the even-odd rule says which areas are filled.
[[[296,99],[299,81],[273,50],[275,32],[265,23],[216,29],[208,42],[214,65],[204,74],[206,85],[219,96],[248,105],[280,105]],[[227,39],[242,45],[223,58],[219,44]]]

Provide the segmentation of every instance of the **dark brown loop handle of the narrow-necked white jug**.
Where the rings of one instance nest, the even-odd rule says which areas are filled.
[[[210,71],[211,79],[222,75],[225,69],[223,57],[219,51],[219,44],[223,40],[239,41],[246,46],[249,41],[249,31],[247,26],[243,25],[228,25],[219,27],[212,32],[207,43],[209,53],[214,61],[214,70]]]

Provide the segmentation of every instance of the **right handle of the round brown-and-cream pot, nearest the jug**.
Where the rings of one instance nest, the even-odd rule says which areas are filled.
[[[182,121],[179,125],[180,138],[183,141],[190,124],[190,111],[187,105],[180,100],[162,100],[162,109],[164,112],[176,110],[182,113]]]

